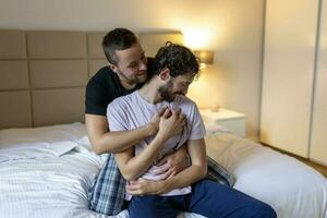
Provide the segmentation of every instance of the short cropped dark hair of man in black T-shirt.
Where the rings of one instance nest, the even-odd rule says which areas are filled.
[[[107,60],[112,64],[117,64],[116,51],[131,48],[136,43],[137,37],[130,29],[114,28],[104,37],[102,48]]]

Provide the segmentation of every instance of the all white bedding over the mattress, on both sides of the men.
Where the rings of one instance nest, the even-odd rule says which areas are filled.
[[[84,125],[27,132],[0,131],[0,217],[108,217],[87,208],[87,190],[102,159],[89,153]],[[279,218],[327,218],[327,181],[312,168],[221,130],[206,143],[208,154],[235,178],[234,187],[271,205]]]

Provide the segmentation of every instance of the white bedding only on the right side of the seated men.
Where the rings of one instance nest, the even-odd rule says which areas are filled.
[[[327,218],[327,180],[313,168],[229,133],[208,135],[206,144],[234,189],[269,204],[278,218]]]

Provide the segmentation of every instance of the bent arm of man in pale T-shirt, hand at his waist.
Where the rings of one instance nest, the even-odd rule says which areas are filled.
[[[203,179],[207,174],[206,148],[204,140],[187,142],[187,150],[192,160],[191,167],[180,173],[161,181],[138,180],[126,186],[132,195],[162,194],[173,189],[185,187]]]

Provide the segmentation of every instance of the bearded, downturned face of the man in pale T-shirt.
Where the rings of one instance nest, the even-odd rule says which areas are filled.
[[[194,74],[186,73],[177,77],[170,77],[166,85],[159,87],[162,100],[173,101],[177,95],[186,95]]]

